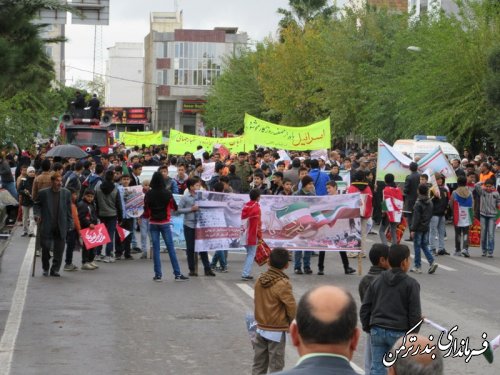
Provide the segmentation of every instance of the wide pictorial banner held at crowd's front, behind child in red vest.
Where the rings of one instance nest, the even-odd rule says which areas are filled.
[[[241,210],[248,196],[200,192],[196,251],[236,250],[240,246]],[[271,247],[296,250],[359,250],[359,194],[321,197],[263,195],[262,235]]]

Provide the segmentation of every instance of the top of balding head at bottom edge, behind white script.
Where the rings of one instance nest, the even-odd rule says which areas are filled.
[[[415,337],[416,341],[409,344],[409,338]],[[394,346],[391,352],[394,353],[403,345],[412,345],[413,348],[420,348],[416,355],[412,355],[415,349],[407,348],[405,351],[399,353],[398,358],[395,360],[394,364],[389,368],[389,375],[442,375],[444,374],[443,357],[440,355],[439,350],[427,337],[422,335],[411,335],[406,338],[406,343],[403,344],[403,337],[400,338]],[[425,347],[434,349],[430,352],[424,353]],[[409,352],[408,355],[404,356],[405,353]],[[432,358],[435,356],[434,358]]]

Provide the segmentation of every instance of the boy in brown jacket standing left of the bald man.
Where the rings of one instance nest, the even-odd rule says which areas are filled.
[[[292,284],[283,272],[288,268],[288,250],[277,247],[269,256],[269,269],[254,289],[257,336],[252,375],[278,372],[285,367],[285,333],[295,318],[297,305]]]

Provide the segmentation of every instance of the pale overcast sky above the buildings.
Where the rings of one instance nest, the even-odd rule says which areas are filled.
[[[276,36],[278,8],[288,8],[288,0],[111,0],[109,26],[102,26],[97,38],[96,72],[104,73],[107,48],[116,42],[144,42],[149,33],[151,12],[183,11],[185,29],[238,27],[250,40]],[[98,33],[99,35],[99,33]],[[66,26],[66,79],[71,85],[78,79],[91,80],[94,53],[94,26]]]

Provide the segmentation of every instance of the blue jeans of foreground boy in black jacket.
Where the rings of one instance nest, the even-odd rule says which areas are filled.
[[[419,232],[415,232],[417,235]],[[370,375],[385,375],[387,368],[382,360],[385,353],[389,352],[394,343],[405,335],[405,331],[397,331],[393,329],[373,326],[370,329],[370,343],[372,346],[372,366]]]

